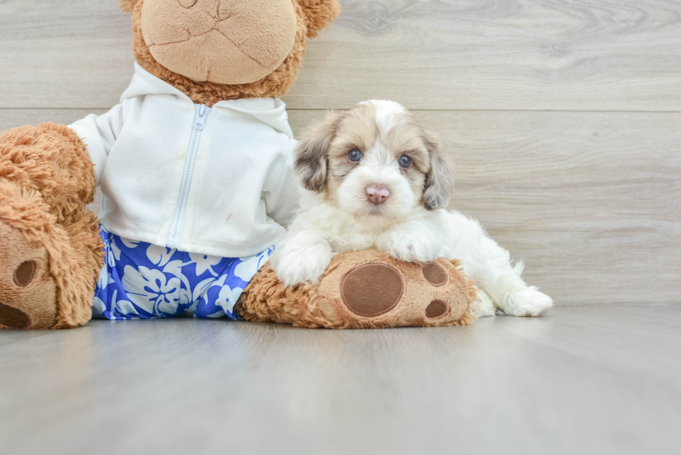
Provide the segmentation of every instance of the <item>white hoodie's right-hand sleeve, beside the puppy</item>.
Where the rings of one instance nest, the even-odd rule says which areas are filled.
[[[288,154],[279,163],[274,163],[268,179],[272,185],[263,192],[268,216],[286,228],[300,204],[300,187],[293,174],[293,149],[296,144],[295,140],[290,140]]]

